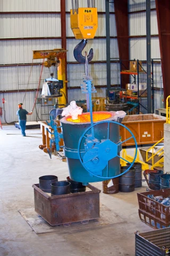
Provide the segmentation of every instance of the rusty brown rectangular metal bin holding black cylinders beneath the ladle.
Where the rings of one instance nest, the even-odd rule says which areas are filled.
[[[89,191],[50,196],[32,185],[35,197],[35,211],[51,226],[71,222],[93,220],[100,217],[100,190],[89,185]]]

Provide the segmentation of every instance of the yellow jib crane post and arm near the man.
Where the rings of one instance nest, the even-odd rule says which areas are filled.
[[[63,81],[63,89],[61,92],[62,97],[58,98],[59,105],[66,104],[66,83],[65,81],[65,57],[67,50],[64,49],[54,49],[54,50],[40,50],[33,51],[33,59],[47,59],[44,61],[45,67],[56,66],[57,68],[57,79]]]

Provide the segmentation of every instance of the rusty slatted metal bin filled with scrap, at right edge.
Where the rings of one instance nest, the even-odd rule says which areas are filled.
[[[165,228],[170,225],[170,206],[158,203],[148,195],[169,197],[170,189],[152,190],[137,193],[139,203],[139,217],[152,228]]]

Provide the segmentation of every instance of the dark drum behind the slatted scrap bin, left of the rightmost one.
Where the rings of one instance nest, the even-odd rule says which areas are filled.
[[[149,175],[149,188],[153,190],[160,189],[160,175],[162,175],[164,171],[162,170],[154,170],[148,173]]]

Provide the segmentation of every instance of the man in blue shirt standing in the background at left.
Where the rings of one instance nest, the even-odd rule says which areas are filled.
[[[19,110],[16,112],[16,115],[18,115],[18,119],[19,119],[19,125],[21,128],[21,133],[22,136],[25,137],[25,126],[26,126],[26,122],[27,122],[27,115],[32,115],[32,111],[30,113],[28,113],[27,110],[22,108],[22,103],[19,103],[18,105]]]

